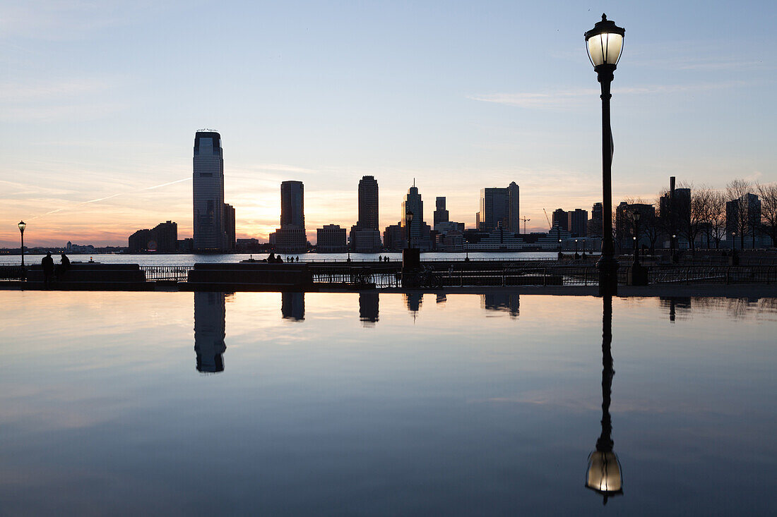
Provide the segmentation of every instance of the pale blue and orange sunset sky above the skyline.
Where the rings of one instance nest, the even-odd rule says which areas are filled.
[[[197,130],[221,133],[238,238],[280,219],[357,220],[374,175],[380,223],[415,180],[475,224],[479,191],[542,209],[601,200],[601,101],[583,33],[625,28],[612,83],[613,201],[668,178],[777,181],[775,2],[0,2],[0,246],[127,245],[192,228]]]

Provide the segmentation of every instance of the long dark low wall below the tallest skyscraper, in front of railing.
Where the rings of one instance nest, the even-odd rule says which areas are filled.
[[[311,290],[307,264],[195,264],[182,290]]]

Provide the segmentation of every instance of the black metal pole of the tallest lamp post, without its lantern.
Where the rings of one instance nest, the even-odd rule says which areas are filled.
[[[601,83],[601,258],[599,269],[599,296],[618,294],[618,261],[612,242],[612,128],[610,126],[610,84],[615,65],[600,64],[596,67]]]

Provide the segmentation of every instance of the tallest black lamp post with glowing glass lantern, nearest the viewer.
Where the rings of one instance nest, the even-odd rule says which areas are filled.
[[[610,83],[618,66],[625,30],[601,15],[601,22],[585,33],[588,59],[601,83],[601,184],[602,232],[599,269],[599,295],[618,293],[618,260],[612,242],[612,128],[610,127]]]

